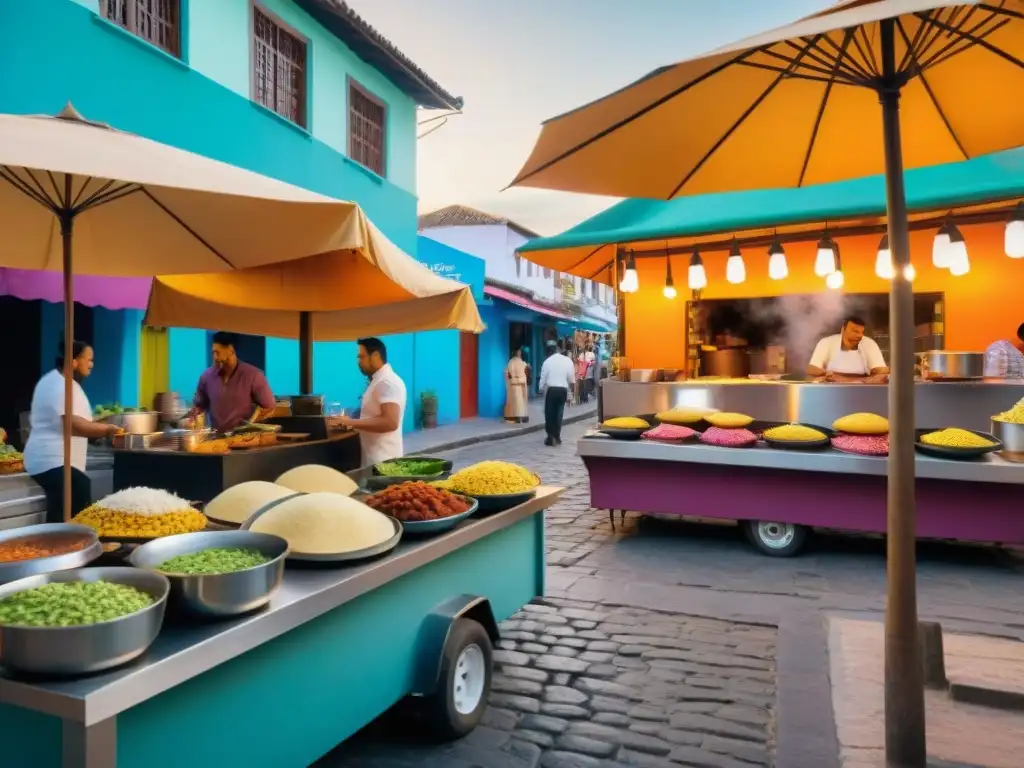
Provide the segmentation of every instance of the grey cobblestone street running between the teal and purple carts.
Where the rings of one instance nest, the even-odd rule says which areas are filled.
[[[528,434],[449,454],[458,466],[520,462],[566,487],[547,517],[547,594],[502,627],[483,726],[424,746],[396,743],[382,718],[318,768],[838,765],[830,706],[818,706],[821,623],[808,617],[878,615],[882,541],[819,536],[804,556],[773,559],[733,526],[616,515],[612,529],[590,509],[572,449],[585,429],[568,427],[561,449]],[[919,558],[923,618],[1024,638],[1014,553],[928,544]],[[802,758],[781,742],[780,721],[800,730]]]

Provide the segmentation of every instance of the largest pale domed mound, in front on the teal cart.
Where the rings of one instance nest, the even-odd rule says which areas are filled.
[[[282,502],[260,515],[250,530],[273,534],[293,552],[333,555],[383,544],[394,524],[380,512],[347,496],[306,494]]]

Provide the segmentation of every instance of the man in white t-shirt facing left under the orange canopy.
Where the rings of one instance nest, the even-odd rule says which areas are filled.
[[[401,422],[406,416],[406,383],[387,362],[387,347],[380,339],[358,341],[356,361],[370,377],[359,404],[359,418],[336,416],[332,427],[348,427],[359,433],[364,467],[399,459],[404,454]]]

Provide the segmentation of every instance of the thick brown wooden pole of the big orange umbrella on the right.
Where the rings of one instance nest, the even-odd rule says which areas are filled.
[[[916,530],[914,525],[913,292],[904,269],[910,263],[895,20],[881,23],[883,84],[880,88],[886,153],[886,207],[895,276],[889,294],[892,341],[889,380],[888,553],[886,560],[886,762],[892,768],[924,768],[924,674],[918,639]]]

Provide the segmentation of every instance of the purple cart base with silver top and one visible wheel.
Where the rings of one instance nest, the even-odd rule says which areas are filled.
[[[989,412],[991,408],[989,408]],[[591,506],[736,520],[765,554],[791,556],[812,528],[886,531],[888,461],[833,449],[733,449],[584,437]],[[1024,465],[916,456],[918,536],[1024,545]]]

